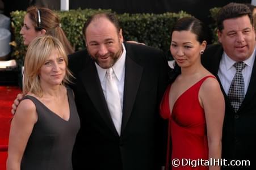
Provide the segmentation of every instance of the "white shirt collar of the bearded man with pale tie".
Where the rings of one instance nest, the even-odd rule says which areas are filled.
[[[123,47],[123,53],[121,54],[119,59],[117,59],[116,63],[112,66],[112,69],[114,70],[116,78],[119,80],[119,82],[121,81],[121,78],[124,73],[125,56],[126,56],[126,49],[123,43],[122,43],[122,47]],[[107,69],[102,69],[102,67],[100,67],[96,62],[95,62],[95,66],[98,71],[99,80],[102,83],[106,75]]]

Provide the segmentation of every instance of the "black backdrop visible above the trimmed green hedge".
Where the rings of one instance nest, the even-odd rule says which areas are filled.
[[[4,14],[9,16],[11,11],[26,10],[30,5],[38,5],[60,10],[59,0],[0,0],[4,3]],[[251,3],[251,0],[70,0],[69,8],[102,8],[111,9],[118,14],[154,13],[186,11],[188,14],[202,20],[206,25],[214,21],[210,17],[209,9],[222,7],[230,2]],[[208,44],[212,42],[212,31],[208,28]]]

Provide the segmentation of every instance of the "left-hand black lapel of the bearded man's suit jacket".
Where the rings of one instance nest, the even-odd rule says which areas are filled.
[[[88,62],[88,64],[85,66],[85,69],[81,72],[81,74],[79,74],[79,76],[81,77],[83,86],[85,87],[87,94],[93,102],[95,109],[106,122],[107,126],[116,135],[118,135],[114,123],[112,122],[110,112],[108,111],[106,99],[104,97],[98,72],[96,71],[96,66],[93,60]]]

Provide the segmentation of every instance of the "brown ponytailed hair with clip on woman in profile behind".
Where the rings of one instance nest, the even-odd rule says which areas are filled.
[[[27,14],[36,31],[45,29],[46,35],[51,35],[61,41],[67,54],[74,52],[72,45],[60,27],[60,19],[55,12],[44,7],[30,6],[27,8]]]

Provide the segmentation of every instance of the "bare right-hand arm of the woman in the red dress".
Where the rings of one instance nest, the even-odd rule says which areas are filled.
[[[199,100],[205,112],[209,160],[220,159],[225,101],[216,79],[208,78],[204,81],[199,91]],[[220,166],[209,166],[209,170],[212,169],[220,169]]]

